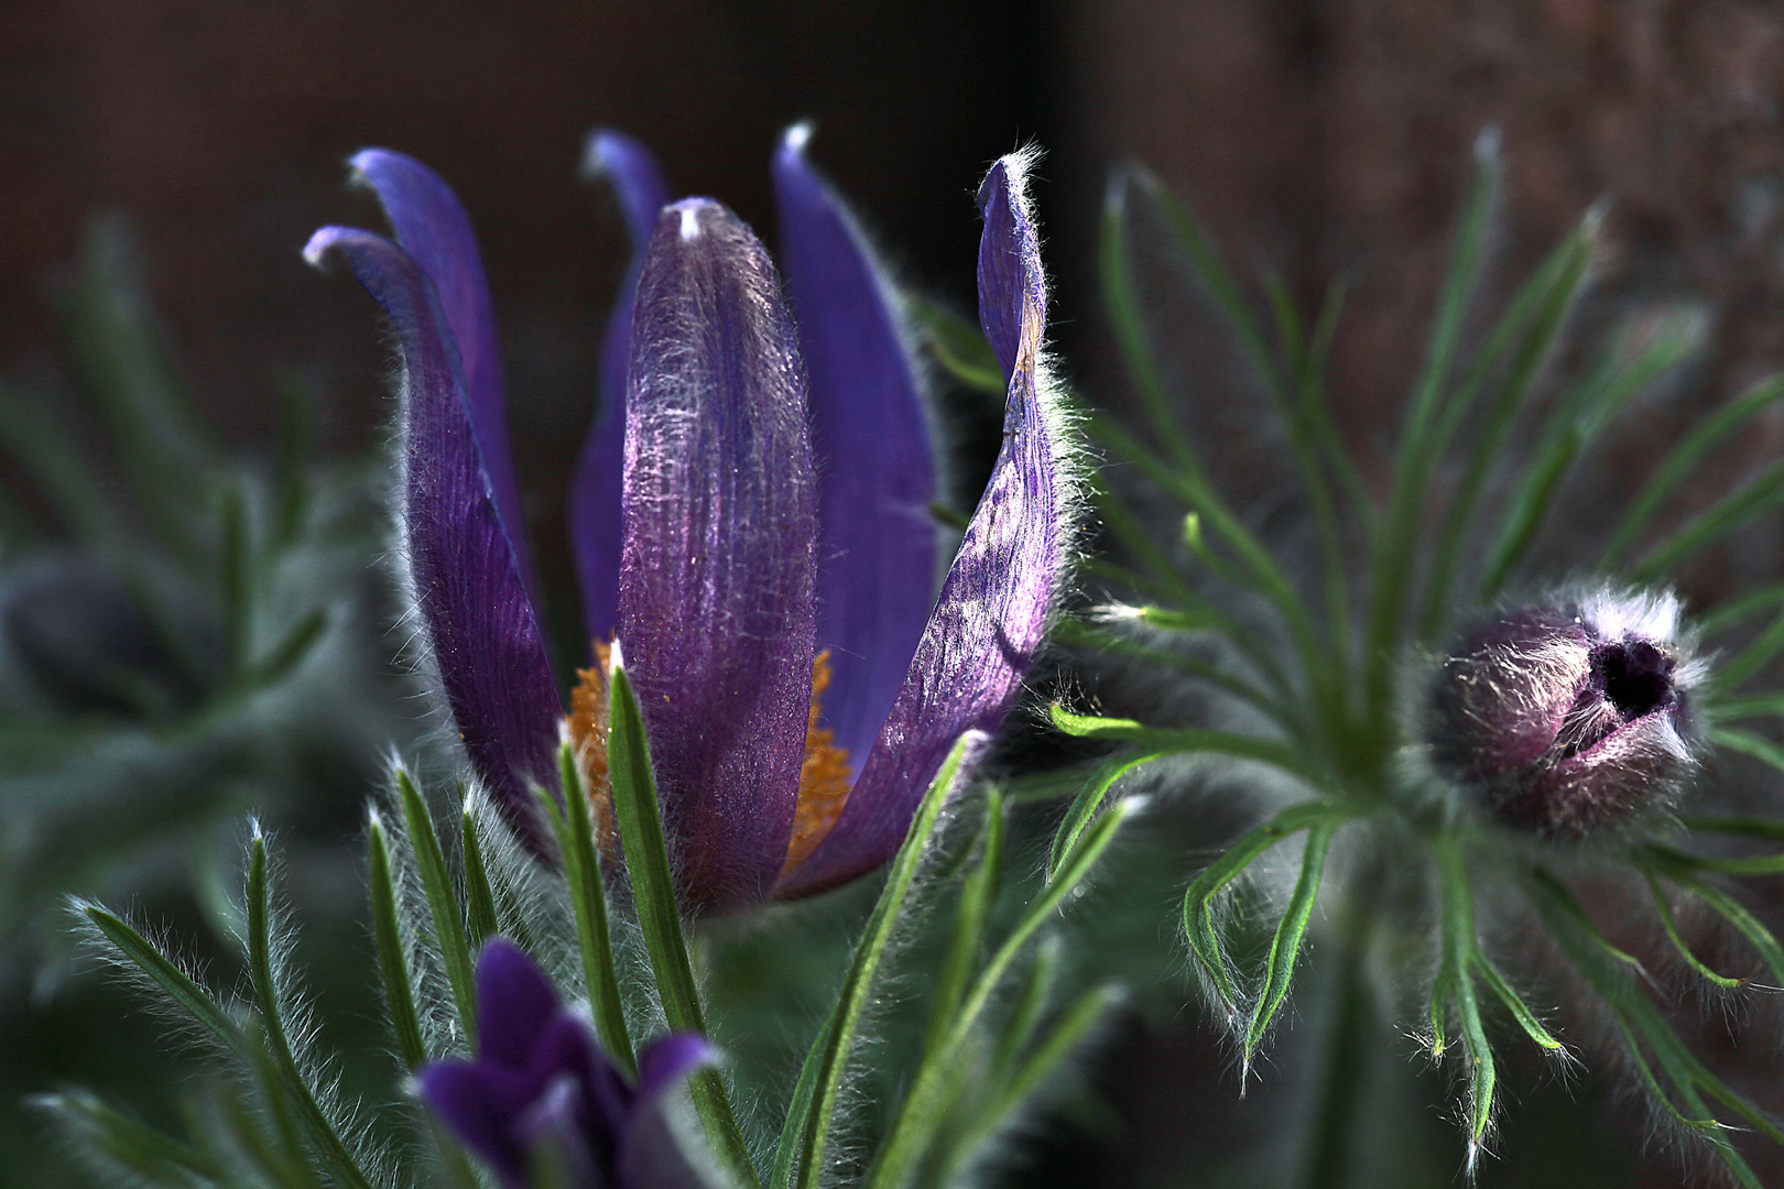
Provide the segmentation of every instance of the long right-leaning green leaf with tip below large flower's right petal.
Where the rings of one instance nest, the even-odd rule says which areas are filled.
[[[812,1050],[806,1054],[799,1087],[794,1093],[794,1105],[787,1112],[787,1123],[781,1128],[780,1144],[776,1146],[771,1185],[810,1189],[822,1178],[824,1146],[830,1139],[831,1116],[835,1114],[837,1095],[842,1087],[842,1071],[847,1064],[849,1050],[855,1046],[855,1034],[860,1027],[862,1011],[867,1007],[874,973],[880,970],[880,959],[892,941],[899,911],[904,907],[904,898],[917,879],[917,870],[922,866],[937,818],[960,777],[960,765],[972,742],[972,734],[962,734],[954,742],[940,772],[929,783],[929,790],[917,808],[917,816],[912,818],[904,843],[892,859],[880,900],[874,904],[872,916],[867,918],[867,927],[855,945],[855,957],[849,963],[842,991],[837,995],[837,1005],[831,1009],[824,1030],[819,1032],[812,1043]],[[995,822],[1001,829],[1001,813],[997,813]],[[992,829],[992,818],[987,818],[987,829]],[[979,870],[983,870],[983,865]]]

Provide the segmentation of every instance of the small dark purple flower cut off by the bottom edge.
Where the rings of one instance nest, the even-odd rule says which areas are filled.
[[[435,1061],[421,1098],[501,1178],[521,1189],[546,1162],[566,1189],[703,1184],[674,1146],[665,1095],[712,1061],[705,1037],[674,1032],[639,1054],[632,1086],[589,1023],[558,1004],[533,959],[492,938],[476,961],[476,1061]]]

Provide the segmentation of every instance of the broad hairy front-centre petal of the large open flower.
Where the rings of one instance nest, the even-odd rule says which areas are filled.
[[[817,535],[805,380],[737,216],[667,207],[632,324],[619,640],[690,907],[787,857],[812,699]]]

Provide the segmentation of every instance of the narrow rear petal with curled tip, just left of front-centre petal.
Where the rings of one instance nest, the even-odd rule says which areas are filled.
[[[626,463],[626,362],[632,355],[632,301],[644,267],[644,246],[669,185],[651,152],[623,132],[589,134],[583,173],[614,184],[632,235],[632,264],[614,296],[601,340],[601,405],[582,444],[569,497],[571,556],[582,585],[583,631],[610,640],[619,608],[619,492]]]

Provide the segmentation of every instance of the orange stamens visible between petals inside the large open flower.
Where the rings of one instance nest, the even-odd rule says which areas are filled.
[[[607,775],[607,670],[612,663],[612,645],[596,640],[594,661],[594,668],[576,670],[576,688],[569,695],[569,743],[594,813],[594,838],[603,852],[617,854],[614,788]],[[849,752],[846,747],[837,747],[835,731],[817,722],[822,713],[821,699],[828,688],[830,649],[824,649],[812,658],[812,709],[805,724],[805,761],[799,765],[799,799],[794,806],[783,873],[812,857],[849,799]]]

